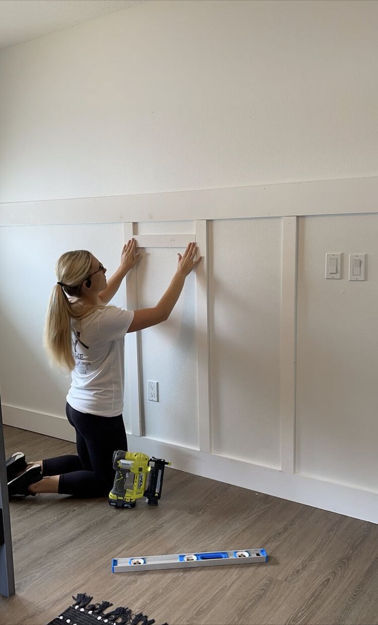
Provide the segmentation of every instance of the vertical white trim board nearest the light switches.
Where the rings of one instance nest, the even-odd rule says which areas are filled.
[[[297,288],[297,217],[282,220],[280,319],[281,469],[294,473],[295,459],[295,315]]]

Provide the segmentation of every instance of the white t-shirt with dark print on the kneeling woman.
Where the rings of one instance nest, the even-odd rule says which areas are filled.
[[[134,312],[116,306],[73,319],[75,367],[67,401],[80,412],[115,417],[123,411],[125,334]]]

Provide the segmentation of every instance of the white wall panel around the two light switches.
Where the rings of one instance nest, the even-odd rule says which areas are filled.
[[[299,228],[297,471],[377,491],[378,215],[305,217]],[[325,254],[343,252],[342,279]],[[349,254],[367,281],[349,282]]]

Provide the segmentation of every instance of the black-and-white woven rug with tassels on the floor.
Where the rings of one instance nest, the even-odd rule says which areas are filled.
[[[109,625],[113,623],[116,625],[153,625],[155,623],[155,619],[148,619],[148,616],[142,612],[134,614],[130,607],[116,607],[115,610],[104,612],[113,606],[113,603],[110,601],[91,603],[93,597],[89,597],[85,593],[72,598],[74,604],[56,616],[48,625],[61,625],[63,623],[69,623],[69,625],[95,625],[95,623],[99,625],[103,625],[103,623]],[[168,623],[161,625],[168,625]]]

